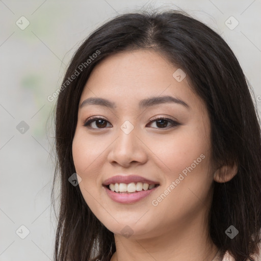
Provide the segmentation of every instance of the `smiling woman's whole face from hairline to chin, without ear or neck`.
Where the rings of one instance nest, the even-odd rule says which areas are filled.
[[[115,234],[179,232],[207,215],[210,119],[184,76],[154,51],[128,51],[98,64],[83,90],[73,161],[86,203]]]

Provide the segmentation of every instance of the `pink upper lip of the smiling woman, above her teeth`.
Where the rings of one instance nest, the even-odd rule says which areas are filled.
[[[124,175],[116,175],[113,177],[110,177],[108,179],[106,179],[102,185],[103,186],[108,186],[110,184],[115,184],[115,183],[125,183],[125,184],[129,184],[129,183],[136,183],[136,182],[142,182],[142,183],[147,183],[147,184],[159,184],[159,182],[157,181],[153,181],[141,176],[137,176],[137,175],[128,175],[128,176],[124,176]]]

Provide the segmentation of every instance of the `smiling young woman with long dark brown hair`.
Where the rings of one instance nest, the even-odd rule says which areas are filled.
[[[186,13],[120,15],[86,39],[56,149],[56,261],[259,260],[257,112],[231,49]]]

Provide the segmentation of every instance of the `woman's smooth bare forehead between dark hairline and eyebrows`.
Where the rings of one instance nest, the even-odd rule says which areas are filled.
[[[139,107],[142,105],[141,99],[153,96],[172,96],[185,103],[186,100],[191,102],[197,99],[188,85],[187,77],[178,82],[173,76],[178,69],[163,55],[151,50],[111,55],[91,72],[80,106],[89,97],[106,97],[113,100],[116,106],[117,103],[127,106],[137,102]]]

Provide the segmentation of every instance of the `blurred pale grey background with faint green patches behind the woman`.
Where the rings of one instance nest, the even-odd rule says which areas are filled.
[[[158,7],[184,10],[224,38],[261,111],[260,0],[0,0],[0,261],[53,260],[57,98],[47,97],[74,51],[112,17]]]

